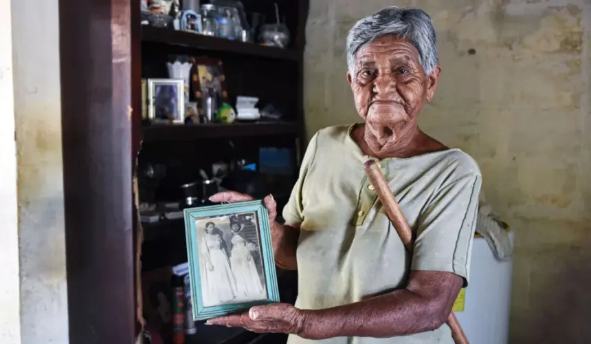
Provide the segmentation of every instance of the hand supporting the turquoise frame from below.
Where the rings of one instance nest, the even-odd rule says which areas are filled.
[[[305,311],[289,303],[271,303],[253,307],[247,313],[219,316],[205,323],[244,327],[246,330],[257,333],[288,333],[302,336],[305,319]]]

